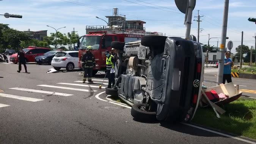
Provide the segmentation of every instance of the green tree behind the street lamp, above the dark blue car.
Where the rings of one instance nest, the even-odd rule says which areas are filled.
[[[55,33],[50,33],[50,34],[51,34],[50,37],[48,37],[48,36],[44,37],[44,41],[46,41],[48,45],[53,45],[55,48],[67,45],[69,42],[69,39],[66,34],[57,32],[57,40],[56,40]]]

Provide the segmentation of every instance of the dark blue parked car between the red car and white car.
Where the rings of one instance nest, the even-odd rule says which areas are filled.
[[[44,63],[48,63],[51,65],[52,63],[52,58],[61,51],[49,51],[46,52],[44,55],[38,56],[35,58],[35,62],[38,64],[44,64]]]

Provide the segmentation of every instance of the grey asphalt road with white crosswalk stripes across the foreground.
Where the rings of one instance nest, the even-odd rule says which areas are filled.
[[[99,84],[75,82],[82,81],[80,71],[47,74],[51,66],[27,67],[30,74],[17,73],[17,64],[0,63],[1,144],[245,143],[184,124],[135,121],[129,108],[95,97],[104,92]],[[95,82],[103,77],[97,74]],[[105,93],[99,97],[106,100]]]

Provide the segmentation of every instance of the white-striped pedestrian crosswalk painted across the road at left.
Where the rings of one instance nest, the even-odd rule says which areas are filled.
[[[103,81],[102,79],[93,79],[93,81],[94,83],[92,84],[90,83],[81,84],[82,81],[74,81],[72,83],[61,82],[61,83],[55,83],[55,84],[39,84],[39,85],[36,85],[36,89],[29,89],[26,87],[10,87],[9,89],[13,90],[11,92],[14,92],[14,94],[2,92],[0,93],[0,98],[16,99],[16,100],[29,101],[29,102],[36,103],[36,102],[44,101],[43,99],[44,97],[41,98],[42,96],[40,95],[41,93],[45,93],[48,95],[69,97],[69,96],[77,95],[77,91],[80,91],[80,92],[86,92],[86,93],[88,92],[88,95],[89,95],[91,92],[97,92],[99,90],[99,85],[97,84],[102,84],[102,85],[108,84],[108,83],[102,83],[105,81],[108,82],[107,80]],[[96,82],[96,81],[99,81],[99,82]],[[102,86],[102,88],[104,89],[106,87]],[[68,90],[68,92],[63,93],[63,90]],[[32,95],[35,97],[37,96],[37,98],[33,98],[31,94],[29,95],[29,97],[26,95],[20,95],[20,94],[17,95],[19,91],[30,92],[30,93],[34,92],[35,94],[33,93]],[[83,95],[85,94],[83,93]],[[40,98],[38,98],[38,96],[40,96]],[[11,104],[2,103],[0,101],[0,108],[10,107],[10,106]]]

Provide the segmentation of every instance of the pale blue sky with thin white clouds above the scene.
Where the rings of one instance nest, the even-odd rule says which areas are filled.
[[[48,30],[49,35],[50,32],[55,32],[46,26],[50,25],[55,28],[66,26],[60,30],[63,33],[75,28],[79,35],[83,35],[86,25],[105,25],[96,16],[107,20],[105,16],[112,15],[112,8],[118,8],[119,14],[126,15],[128,20],[146,21],[146,31],[185,35],[185,15],[176,8],[174,0],[2,0],[0,4],[1,14],[8,12],[23,15],[22,19],[0,17],[1,23],[9,24],[19,31]],[[207,43],[207,34],[210,37],[221,37],[223,5],[224,0],[197,0],[193,17],[197,15],[197,10],[200,10],[200,15],[204,15],[200,23],[200,27],[204,29],[200,33],[201,43]],[[254,46],[256,25],[247,20],[249,17],[256,18],[255,0],[229,1],[227,36],[234,41],[232,52],[241,44],[241,31],[244,31],[244,44]],[[196,21],[192,23],[191,34],[197,36]],[[216,46],[217,39],[211,39],[210,44]]]

